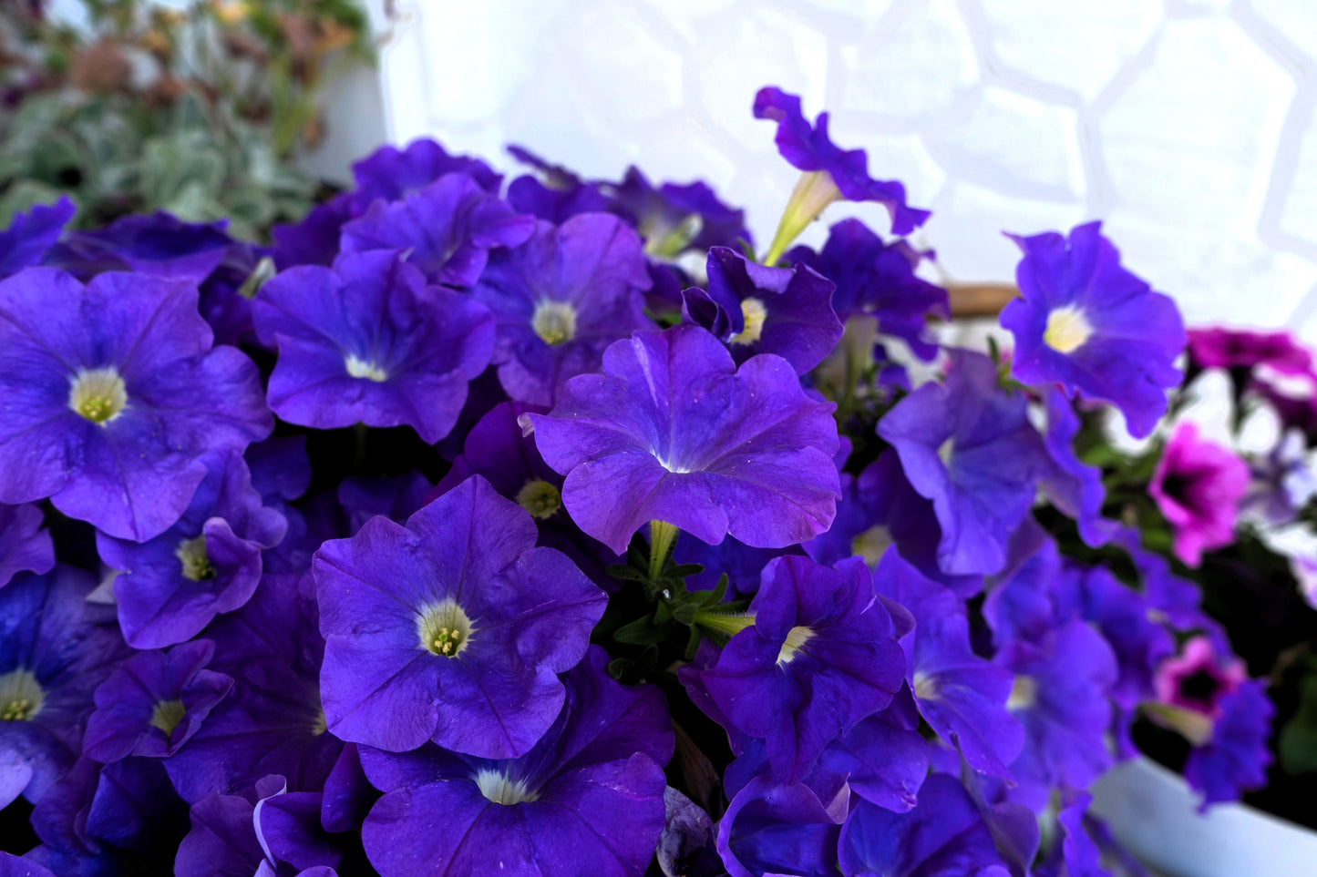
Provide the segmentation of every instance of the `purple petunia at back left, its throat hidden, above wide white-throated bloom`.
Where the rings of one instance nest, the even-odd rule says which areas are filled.
[[[407,250],[431,283],[469,287],[497,246],[518,246],[535,217],[482,190],[466,174],[445,174],[400,201],[378,200],[342,226],[342,252]]]

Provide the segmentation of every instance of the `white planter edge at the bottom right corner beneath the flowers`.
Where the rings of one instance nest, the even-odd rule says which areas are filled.
[[[1200,814],[1184,780],[1143,757],[1094,784],[1093,812],[1167,877],[1317,874],[1317,832],[1237,803]]]

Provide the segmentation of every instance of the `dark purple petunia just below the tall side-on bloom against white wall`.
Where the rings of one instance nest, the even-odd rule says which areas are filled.
[[[831,228],[817,254],[797,246],[788,250],[786,259],[807,265],[836,283],[832,309],[843,323],[871,315],[877,319],[878,333],[901,338],[917,357],[928,361],[938,354],[928,317],[951,319],[947,291],[914,273],[931,255],[906,241],[884,244],[860,220],[846,219]]]

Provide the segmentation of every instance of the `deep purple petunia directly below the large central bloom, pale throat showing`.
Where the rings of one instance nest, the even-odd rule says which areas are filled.
[[[773,560],[749,614],[701,682],[730,728],[766,740],[773,776],[797,782],[828,743],[890,703],[905,656],[860,558]]]

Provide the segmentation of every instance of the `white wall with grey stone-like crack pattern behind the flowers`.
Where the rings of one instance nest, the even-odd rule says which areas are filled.
[[[749,113],[773,83],[932,208],[918,238],[946,278],[1009,279],[1001,229],[1102,217],[1191,321],[1317,341],[1313,0],[394,5],[395,141],[516,142],[587,175],[698,171],[766,242],[795,176]]]

